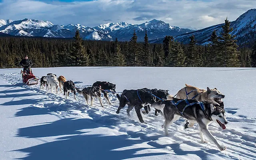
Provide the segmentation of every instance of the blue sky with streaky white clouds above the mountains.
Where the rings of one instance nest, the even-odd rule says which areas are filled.
[[[94,27],[107,22],[141,24],[152,19],[171,26],[205,28],[233,21],[256,0],[0,0],[0,19],[48,20]]]

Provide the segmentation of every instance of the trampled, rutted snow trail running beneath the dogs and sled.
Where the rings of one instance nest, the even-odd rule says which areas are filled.
[[[54,94],[49,93],[46,90],[40,89],[40,83],[34,86],[26,86],[22,83],[20,74],[9,73],[0,74],[0,78],[12,84],[14,87],[22,87],[35,92],[42,97],[45,97],[46,102],[33,104],[32,107],[37,109],[50,110],[49,114],[56,114],[60,118],[66,118],[70,115],[75,115],[77,118],[82,118],[84,114],[88,114],[92,119],[102,126],[108,125],[109,128],[118,129],[120,132],[126,132],[131,138],[140,137],[141,139],[148,140],[148,145],[153,148],[166,148],[166,153],[171,154],[172,148],[168,146],[168,142],[185,144],[200,150],[203,155],[215,154],[216,158],[224,159],[239,159],[243,156],[243,160],[256,159],[256,130],[247,129],[246,133],[238,132],[232,126],[242,123],[250,123],[252,128],[256,128],[256,119],[254,118],[234,118],[232,117],[232,110],[227,113],[227,119],[232,125],[228,124],[226,130],[221,130],[217,125],[210,124],[209,130],[218,140],[221,145],[227,147],[224,152],[219,152],[218,148],[212,143],[202,144],[200,142],[198,126],[194,128],[183,129],[184,119],[177,120],[172,126],[169,127],[169,136],[164,136],[164,131],[161,125],[164,123],[164,118],[154,116],[154,109],[150,114],[142,115],[146,124],[138,122],[136,113],[134,110],[131,112],[132,118],[128,118],[126,114],[126,107],[120,111],[120,114],[116,114],[116,110],[119,106],[119,101],[115,95],[109,94],[112,105],[109,105],[102,96],[102,103],[104,108],[100,106],[97,98],[95,99],[94,106],[90,107],[86,105],[85,99],[82,95],[77,94],[77,100],[74,100],[73,94],[70,94],[69,99],[64,98],[63,93]],[[83,86],[76,85],[79,88]],[[117,86],[118,87],[118,86]],[[113,123],[112,123],[113,122]],[[112,125],[111,125],[112,124]],[[136,127],[140,132],[133,132],[129,128]],[[253,135],[253,136],[252,136]],[[158,139],[165,139],[166,144],[162,145],[157,143],[158,139],[151,139],[152,136],[158,136]],[[153,141],[153,142],[152,142]],[[188,151],[184,154],[193,154]]]

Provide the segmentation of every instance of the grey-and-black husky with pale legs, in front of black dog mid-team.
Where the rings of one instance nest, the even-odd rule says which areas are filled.
[[[102,101],[101,101],[101,86],[100,87],[95,87],[95,86],[92,86],[92,87],[86,87],[84,88],[83,90],[79,90],[78,88],[76,88],[76,91],[79,93],[79,94],[82,94],[87,102],[87,104],[89,105],[89,97],[91,98],[91,106],[94,102],[94,98],[97,97],[100,101],[100,105],[102,107],[103,104],[102,104]]]

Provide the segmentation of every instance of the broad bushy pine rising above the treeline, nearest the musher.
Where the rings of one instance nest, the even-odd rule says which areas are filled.
[[[83,45],[83,40],[80,37],[79,30],[76,30],[74,36],[75,42],[72,45],[71,58],[73,66],[89,66],[89,56],[86,53],[86,49]]]

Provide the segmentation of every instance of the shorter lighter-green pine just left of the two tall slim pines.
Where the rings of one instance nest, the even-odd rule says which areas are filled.
[[[115,40],[115,45],[114,45],[114,66],[126,66],[125,63],[125,57],[121,53],[121,48],[120,44],[118,43],[118,39],[116,38]]]

